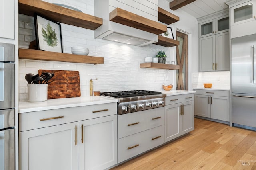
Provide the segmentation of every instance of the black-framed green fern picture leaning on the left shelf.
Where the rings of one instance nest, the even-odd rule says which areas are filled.
[[[60,23],[34,13],[34,24],[37,49],[63,53]]]

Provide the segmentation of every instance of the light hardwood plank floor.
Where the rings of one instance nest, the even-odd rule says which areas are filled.
[[[256,132],[195,118],[195,130],[111,170],[256,170]]]

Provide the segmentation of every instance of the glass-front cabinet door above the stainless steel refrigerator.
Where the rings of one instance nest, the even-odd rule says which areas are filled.
[[[231,25],[255,20],[255,0],[251,0],[230,8]]]

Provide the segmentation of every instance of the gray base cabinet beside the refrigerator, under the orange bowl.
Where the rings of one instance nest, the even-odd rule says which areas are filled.
[[[195,115],[214,120],[230,121],[229,91],[196,90]]]

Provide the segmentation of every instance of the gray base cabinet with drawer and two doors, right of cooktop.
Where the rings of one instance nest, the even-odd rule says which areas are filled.
[[[165,142],[194,130],[194,93],[166,97]]]

